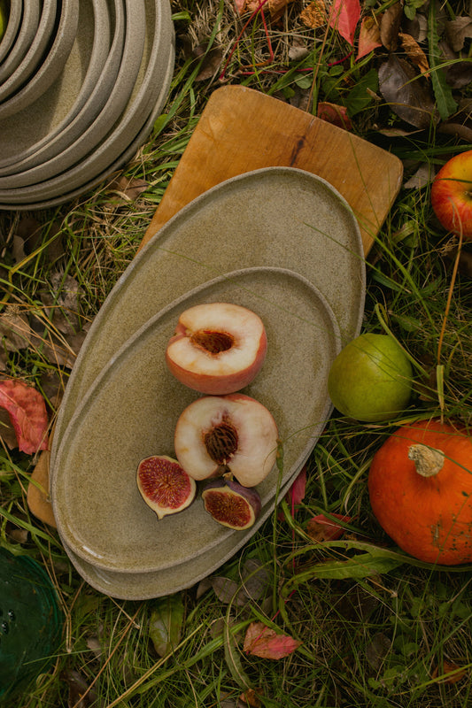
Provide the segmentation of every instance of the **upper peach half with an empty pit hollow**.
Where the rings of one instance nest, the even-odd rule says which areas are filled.
[[[190,389],[221,396],[251,383],[266,351],[266,329],[255,312],[237,304],[197,304],[179,317],[166,364]]]

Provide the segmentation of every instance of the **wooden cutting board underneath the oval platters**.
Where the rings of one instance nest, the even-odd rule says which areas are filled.
[[[359,221],[367,254],[398,195],[400,160],[342,128],[243,86],[216,89],[210,96],[140,248],[207,189],[238,174],[279,165],[317,174],[344,196]],[[27,502],[35,516],[54,525],[48,462],[43,453]]]

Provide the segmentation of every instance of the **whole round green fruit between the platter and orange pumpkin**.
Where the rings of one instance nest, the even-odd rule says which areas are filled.
[[[329,397],[345,416],[365,422],[395,418],[412,392],[412,366],[389,335],[365,334],[349,342],[329,369]]]

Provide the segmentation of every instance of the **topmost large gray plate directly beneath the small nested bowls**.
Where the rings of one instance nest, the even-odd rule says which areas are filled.
[[[64,150],[103,108],[121,62],[121,0],[81,2],[79,27],[64,71],[50,89],[22,112],[0,121],[5,136],[0,177],[22,173]]]

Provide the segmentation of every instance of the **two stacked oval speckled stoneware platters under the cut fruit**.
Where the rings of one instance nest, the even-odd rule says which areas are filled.
[[[360,331],[364,294],[357,220],[312,173],[244,173],[160,229],[98,312],[56,421],[53,512],[86,581],[124,599],[167,595],[213,573],[249,542],[329,418],[329,368]],[[166,342],[181,312],[218,301],[248,307],[265,324],[267,358],[244,393],[274,415],[282,441],[282,468],[258,485],[262,509],[244,531],[214,521],[199,495],[158,520],[135,481],[143,458],[174,457],[176,420],[199,396],[167,370]]]

